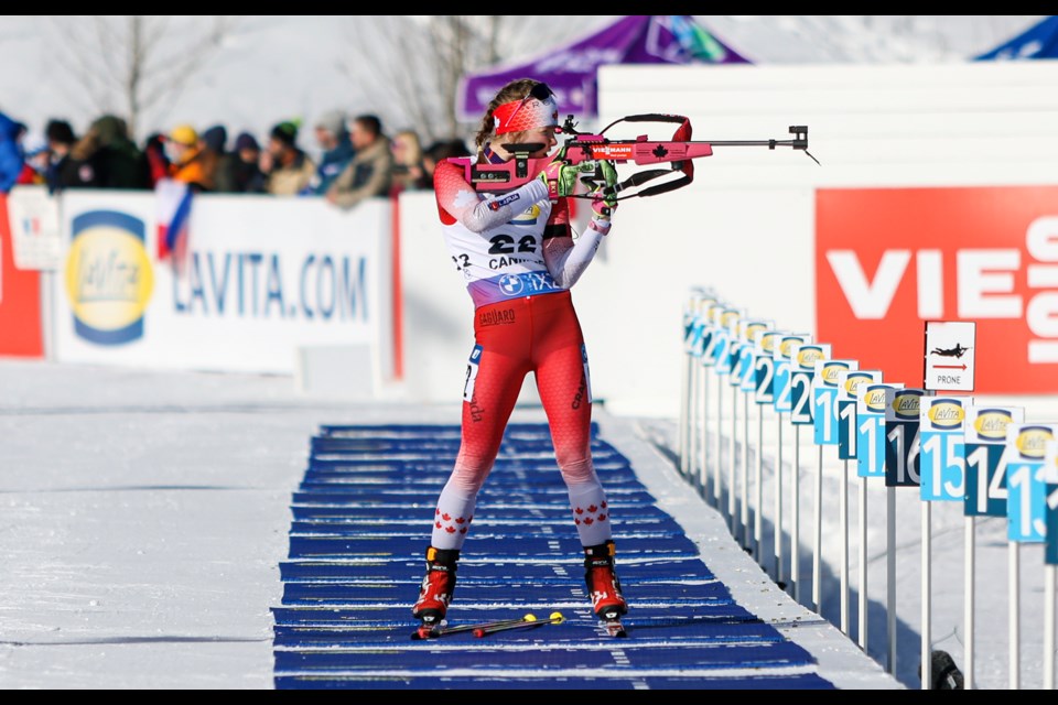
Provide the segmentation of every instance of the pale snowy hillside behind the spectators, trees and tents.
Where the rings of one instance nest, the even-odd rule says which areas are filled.
[[[507,40],[509,61],[537,55],[590,34],[617,15],[572,15],[554,22],[544,15],[520,18],[525,30]],[[1045,15],[695,15],[721,41],[756,64],[962,62],[1002,44]],[[169,18],[156,42],[180,57],[209,26],[207,15]],[[138,133],[166,131],[183,122],[205,129],[225,124],[229,135],[250,130],[263,135],[281,120],[311,124],[342,108],[376,112],[390,132],[414,128],[395,105],[376,105],[365,90],[374,75],[360,56],[364,15],[240,15],[187,85],[145,110]],[[409,22],[417,18],[408,18]],[[50,118],[68,119],[83,131],[101,115],[106,100],[71,68],[63,30],[90,35],[94,25],[74,15],[0,18],[0,63],[17,70],[0,74],[0,111],[41,132]],[[369,33],[368,33],[369,34]],[[548,37],[547,42],[540,37]],[[391,47],[389,47],[391,50]],[[379,61],[387,46],[368,47]],[[84,55],[80,62],[99,61]],[[120,106],[109,109],[119,110]],[[305,149],[315,148],[303,140]]]

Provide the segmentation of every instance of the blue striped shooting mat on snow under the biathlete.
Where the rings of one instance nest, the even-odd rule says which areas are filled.
[[[434,502],[460,427],[322,426],[291,502],[272,609],[280,690],[830,690],[800,646],[736,604],[627,458],[592,427],[612,508],[627,639],[606,636],[547,424],[510,424],[461,552],[450,625],[538,620],[412,640]]]

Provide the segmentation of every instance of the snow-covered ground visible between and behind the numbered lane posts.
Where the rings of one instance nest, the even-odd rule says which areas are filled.
[[[712,391],[708,392],[706,409],[709,420],[708,453],[710,456],[709,477],[714,477],[715,465],[715,380],[711,380]],[[731,392],[724,392],[724,416],[720,424],[721,433],[721,484],[725,488],[721,497],[721,513],[727,510],[727,478],[731,458]],[[699,397],[701,400],[702,398]],[[1058,399],[1054,397],[984,397],[972,398],[974,403],[998,406],[1022,406],[1026,422],[1055,423],[1058,420]],[[736,535],[742,535],[741,525],[741,473],[742,443],[745,437],[744,399],[738,397],[738,416],[735,432],[736,457]],[[757,409],[751,404],[748,440],[751,451],[749,477],[756,464]],[[679,447],[678,425],[666,420],[641,419],[639,425],[644,437],[663,448]],[[778,422],[770,410],[764,412],[764,530],[762,546],[764,567],[775,577],[774,561],[774,507],[775,507],[775,460],[778,438]],[[796,443],[795,426],[789,423],[789,414],[782,422],[782,492],[784,492],[784,574],[787,593],[794,595],[790,584],[792,546],[792,467]],[[814,481],[819,468],[819,446],[812,443],[811,426],[801,426],[800,431],[800,604],[812,606],[812,560],[816,507]],[[676,453],[672,462],[677,464]],[[843,462],[836,457],[836,448],[825,446],[822,454],[822,540],[820,568],[821,615],[834,626],[840,626],[841,584],[839,581],[842,525],[839,513],[839,498]],[[849,636],[859,642],[859,484],[855,462],[849,463],[850,481],[846,486],[849,500],[849,581],[850,617]],[[752,487],[752,485],[751,485]],[[752,491],[752,490],[751,490]],[[882,479],[871,479],[867,484],[867,653],[883,666],[888,664],[887,641],[887,576],[886,576],[886,495],[887,488]],[[710,501],[711,498],[710,498]],[[753,499],[751,497],[751,503]],[[908,687],[919,687],[919,658],[921,654],[921,508],[917,488],[896,488],[896,676]],[[753,527],[751,512],[751,531]],[[931,502],[931,644],[935,650],[947,651],[960,669],[964,669],[963,646],[967,639],[963,620],[964,594],[964,518],[961,502]],[[1004,690],[1010,686],[1010,599],[1008,590],[1008,549],[1006,540],[1006,519],[982,517],[976,519],[975,539],[975,657],[974,685],[982,690]],[[744,542],[748,544],[748,542]],[[1043,686],[1043,616],[1044,616],[1044,551],[1043,544],[1023,544],[1019,550],[1019,629],[1021,629],[1021,681],[1022,688]],[[1054,654],[1051,654],[1054,657]]]

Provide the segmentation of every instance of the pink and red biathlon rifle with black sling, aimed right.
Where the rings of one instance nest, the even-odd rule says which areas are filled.
[[[649,140],[640,135],[634,140],[611,140],[605,137],[607,130],[620,122],[671,122],[678,124],[671,140]],[[817,164],[819,160],[808,151],[808,127],[791,126],[791,140],[691,140],[691,122],[679,115],[646,113],[633,115],[611,122],[597,134],[589,134],[576,130],[573,116],[568,116],[560,132],[568,135],[565,143],[554,155],[533,159],[530,154],[539,152],[544,144],[531,142],[525,144],[504,144],[504,149],[514,154],[514,159],[503,164],[475,164],[472,158],[450,160],[461,164],[466,173],[466,181],[477,191],[508,191],[517,188],[530,180],[536,178],[540,171],[557,159],[568,164],[576,165],[582,172],[581,182],[594,189],[604,188],[604,194],[613,200],[631,197],[657,196],[682,186],[694,180],[694,164],[692,160],[700,156],[710,156],[714,147],[767,147],[774,150],[777,147],[790,147],[801,150]],[[603,169],[598,162],[609,161],[614,164],[634,163],[637,165],[669,164],[667,169],[647,169],[633,173],[616,184],[606,184]],[[644,187],[650,181],[676,174],[661,184]],[[635,191],[629,191],[635,189]],[[622,192],[623,196],[617,196]],[[579,198],[593,198],[593,194],[574,194]]]

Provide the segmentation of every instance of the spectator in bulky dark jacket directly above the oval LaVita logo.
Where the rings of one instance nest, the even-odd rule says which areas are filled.
[[[102,116],[74,144],[58,174],[64,188],[149,188],[147,158],[132,143],[125,120]]]

